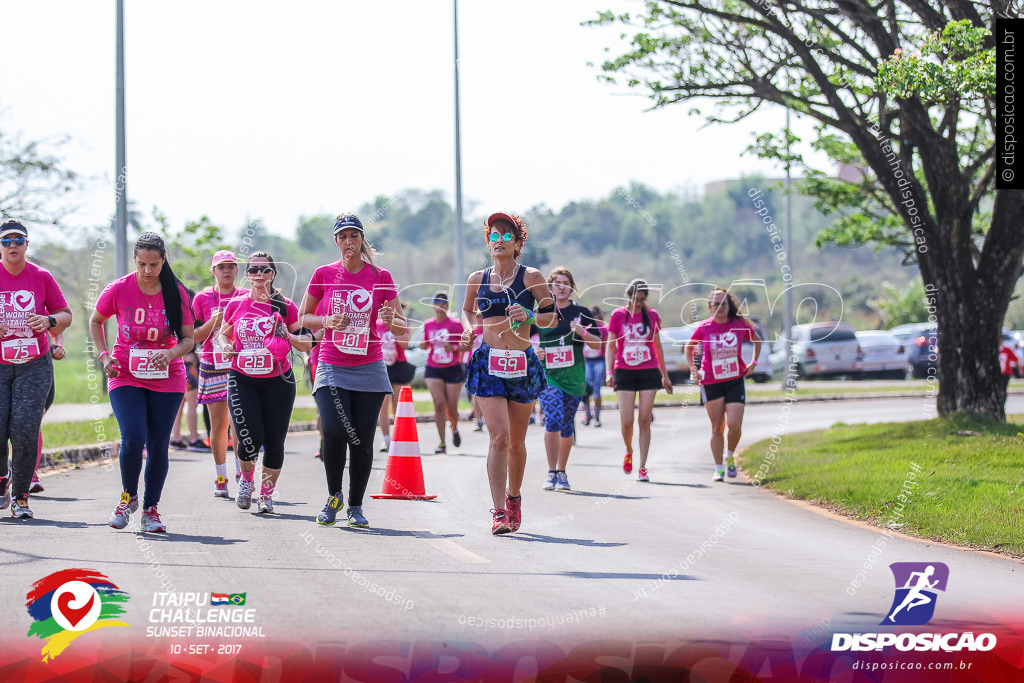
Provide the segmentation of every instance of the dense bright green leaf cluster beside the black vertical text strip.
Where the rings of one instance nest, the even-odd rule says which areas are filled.
[[[928,34],[921,50],[900,48],[879,66],[874,83],[894,97],[930,102],[977,100],[995,95],[995,47],[985,47],[992,33],[968,19],[950,22]]]

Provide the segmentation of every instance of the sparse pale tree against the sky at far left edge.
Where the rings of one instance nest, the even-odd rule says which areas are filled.
[[[65,200],[78,189],[79,177],[51,152],[66,141],[25,142],[0,131],[0,216],[55,225],[70,212]]]

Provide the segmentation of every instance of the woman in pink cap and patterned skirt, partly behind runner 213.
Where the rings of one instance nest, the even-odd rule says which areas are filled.
[[[213,286],[193,299],[197,325],[196,343],[203,345],[199,355],[198,402],[210,411],[210,450],[213,451],[213,465],[217,471],[213,495],[217,498],[229,498],[226,461],[227,430],[231,420],[227,415],[227,371],[231,368],[231,358],[220,347],[219,331],[227,302],[248,294],[249,290],[234,286],[239,261],[227,250],[213,255],[210,272],[213,273]],[[238,459],[236,466],[238,467]]]

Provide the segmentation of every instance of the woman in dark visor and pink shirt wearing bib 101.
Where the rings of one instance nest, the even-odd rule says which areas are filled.
[[[335,523],[343,506],[341,486],[347,461],[348,525],[365,527],[370,522],[362,514],[362,496],[374,464],[374,433],[384,398],[391,393],[377,321],[396,337],[406,332],[407,325],[398,288],[390,272],[374,264],[376,251],[357,216],[338,216],[334,242],[341,259],[316,268],[299,306],[302,325],[328,331],[321,342],[313,381],[329,495],[316,521],[328,526]],[[322,302],[325,312],[317,314]]]

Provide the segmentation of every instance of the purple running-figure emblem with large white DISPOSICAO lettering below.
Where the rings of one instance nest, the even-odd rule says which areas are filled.
[[[945,593],[949,567],[942,562],[893,562],[896,594],[880,626],[922,626],[935,614],[936,591]],[[986,652],[995,647],[995,636],[981,633],[834,633],[831,650],[866,652],[896,647],[906,652]]]

